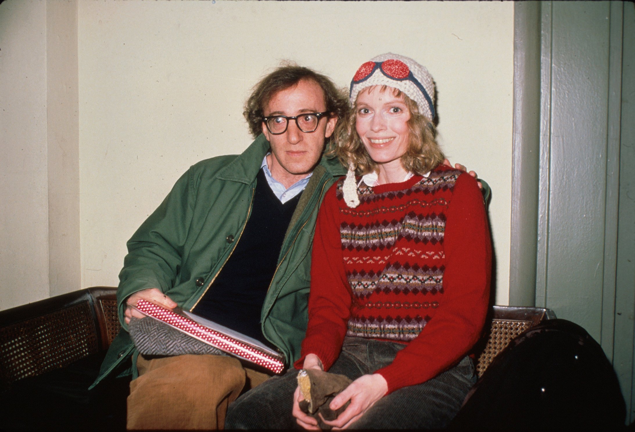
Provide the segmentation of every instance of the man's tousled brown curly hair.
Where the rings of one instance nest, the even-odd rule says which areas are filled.
[[[344,90],[338,89],[330,78],[321,73],[295,63],[285,62],[253,87],[251,96],[245,103],[243,115],[249,124],[251,136],[255,138],[262,132],[264,109],[274,94],[295,86],[303,79],[313,80],[321,87],[324,92],[326,111],[330,111],[331,116],[345,117],[349,110],[349,103]]]

